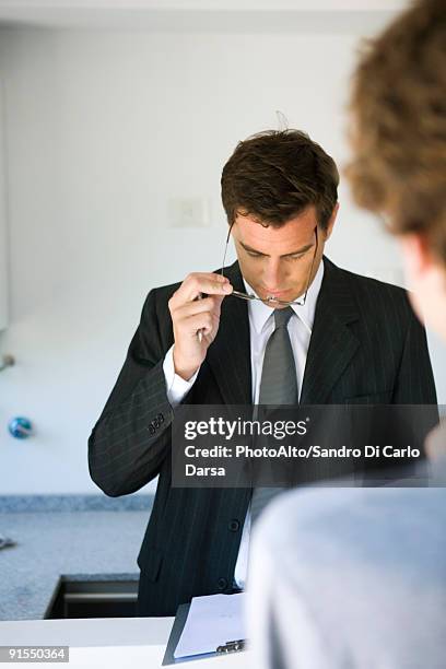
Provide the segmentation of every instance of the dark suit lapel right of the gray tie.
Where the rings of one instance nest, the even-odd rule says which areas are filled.
[[[336,382],[360,345],[349,328],[359,315],[345,277],[327,258],[324,258],[324,266],[301,392],[302,404],[327,402]]]

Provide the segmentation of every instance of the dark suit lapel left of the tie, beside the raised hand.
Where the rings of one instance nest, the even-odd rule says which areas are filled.
[[[238,262],[227,268],[225,275],[235,290],[245,292]],[[251,403],[249,317],[245,300],[231,295],[223,300],[219,332],[206,360],[225,404]]]

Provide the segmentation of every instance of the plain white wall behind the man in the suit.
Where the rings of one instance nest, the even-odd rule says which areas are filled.
[[[0,353],[2,493],[95,492],[86,439],[151,286],[219,266],[220,174],[275,109],[342,164],[356,34],[3,30],[10,328]],[[212,204],[208,228],[168,226],[168,198]],[[401,279],[394,243],[341,188],[328,255]],[[437,344],[436,344],[437,347]],[[437,347],[438,348],[438,347]],[[439,374],[442,401],[446,380]],[[445,367],[443,356],[443,367]],[[7,433],[30,416],[36,435]]]

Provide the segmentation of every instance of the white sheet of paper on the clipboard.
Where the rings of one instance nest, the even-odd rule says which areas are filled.
[[[218,646],[246,638],[244,596],[193,597],[174,657],[215,653]]]

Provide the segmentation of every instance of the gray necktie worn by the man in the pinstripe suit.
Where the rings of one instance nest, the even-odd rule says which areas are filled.
[[[296,404],[298,402],[296,365],[287,331],[287,321],[294,314],[289,306],[274,309],[275,328],[265,349],[261,371],[259,404]],[[266,505],[283,488],[255,488],[251,500],[251,521],[257,520]]]

